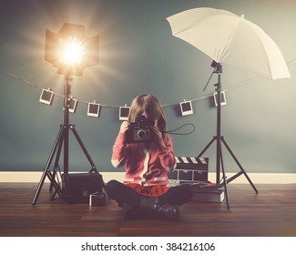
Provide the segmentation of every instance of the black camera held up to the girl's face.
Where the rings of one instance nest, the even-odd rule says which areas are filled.
[[[131,122],[127,131],[128,143],[140,143],[152,139],[153,123],[141,115],[136,117],[136,122]]]

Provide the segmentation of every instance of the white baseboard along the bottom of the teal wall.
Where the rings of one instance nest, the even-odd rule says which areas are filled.
[[[15,171],[0,171],[0,182],[39,182],[42,178],[43,172],[15,172]],[[122,181],[124,172],[101,172],[105,182],[110,179],[117,179]],[[227,173],[227,177],[230,178],[235,173]],[[287,184],[296,183],[296,173],[248,173],[251,181],[262,184]],[[49,180],[46,178],[45,182]],[[209,173],[209,181],[216,181],[216,174]],[[244,175],[240,175],[239,178],[234,179],[231,183],[249,183]]]

